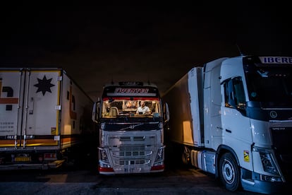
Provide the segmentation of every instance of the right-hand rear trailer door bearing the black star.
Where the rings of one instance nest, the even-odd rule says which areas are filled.
[[[21,146],[58,146],[61,71],[28,71]]]

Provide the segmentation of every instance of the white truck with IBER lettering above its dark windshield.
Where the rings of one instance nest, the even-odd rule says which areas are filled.
[[[166,149],[181,162],[229,191],[272,194],[291,183],[292,57],[216,59],[188,71],[162,100]]]

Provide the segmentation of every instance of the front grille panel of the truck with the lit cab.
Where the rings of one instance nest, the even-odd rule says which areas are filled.
[[[130,126],[126,124],[125,126]],[[158,124],[156,124],[158,126]],[[147,124],[145,124],[147,126]],[[162,131],[103,131],[103,145],[99,147],[100,155],[107,155],[107,159],[99,158],[99,165],[109,164],[114,172],[104,174],[126,174],[152,172],[155,166],[164,167],[164,146],[161,142]],[[160,157],[157,157],[159,153]],[[153,167],[153,168],[152,168]],[[154,170],[153,170],[154,172]]]

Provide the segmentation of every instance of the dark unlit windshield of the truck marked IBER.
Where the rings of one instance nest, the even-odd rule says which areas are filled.
[[[264,67],[247,73],[248,95],[262,106],[292,106],[292,69]]]

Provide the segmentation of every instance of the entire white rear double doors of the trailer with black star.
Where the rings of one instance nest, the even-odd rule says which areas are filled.
[[[0,70],[0,150],[59,147],[61,71]]]

